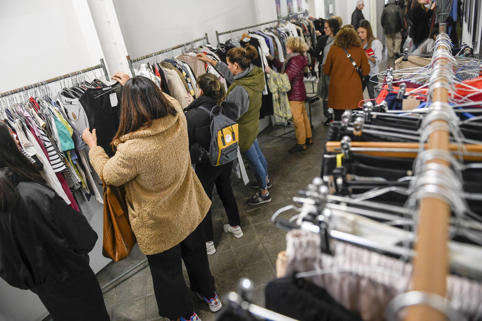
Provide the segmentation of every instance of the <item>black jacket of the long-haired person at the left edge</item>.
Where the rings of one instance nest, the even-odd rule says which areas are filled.
[[[23,290],[55,285],[89,268],[97,234],[46,185],[21,182],[18,205],[0,212],[0,277]]]

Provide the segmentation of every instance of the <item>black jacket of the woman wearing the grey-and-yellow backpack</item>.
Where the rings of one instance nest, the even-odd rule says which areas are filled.
[[[198,108],[200,106],[211,111],[216,106],[216,100],[213,97],[201,95],[199,98],[194,99],[192,103],[184,108],[184,112],[187,120],[187,136],[189,138],[189,153],[191,154],[191,163],[203,164],[209,163],[209,157],[206,153],[202,153],[201,150],[209,150],[211,144],[211,119],[209,114]],[[234,109],[237,108],[235,104],[223,102],[223,114],[231,120],[236,121],[236,116],[239,112]],[[214,115],[219,114],[219,107],[214,110]]]

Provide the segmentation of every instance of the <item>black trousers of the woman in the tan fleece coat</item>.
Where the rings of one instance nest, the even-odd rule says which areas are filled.
[[[214,298],[214,278],[209,270],[201,224],[176,246],[158,254],[147,255],[159,315],[171,320],[191,316],[194,312],[182,273],[181,259],[187,269],[191,290],[207,298]]]

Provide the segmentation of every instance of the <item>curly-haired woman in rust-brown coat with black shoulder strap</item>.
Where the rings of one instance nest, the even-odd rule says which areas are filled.
[[[353,27],[342,27],[335,36],[323,69],[325,75],[330,76],[328,106],[335,111],[335,120],[341,120],[345,110],[358,108],[358,103],[363,100],[362,80],[343,48],[362,70],[363,76],[370,72],[362,40]]]

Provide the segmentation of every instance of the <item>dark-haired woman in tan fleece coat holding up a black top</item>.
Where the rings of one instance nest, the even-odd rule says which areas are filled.
[[[139,248],[147,255],[159,315],[171,320],[199,320],[194,313],[182,272],[187,268],[191,290],[212,311],[221,301],[200,223],[211,201],[191,167],[186,117],[177,101],[143,76],[129,79],[118,72],[123,86],[120,126],[109,159],[97,146],[95,129],[84,130],[95,171],[106,184],[124,185],[129,219]]]

